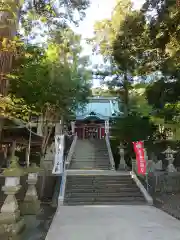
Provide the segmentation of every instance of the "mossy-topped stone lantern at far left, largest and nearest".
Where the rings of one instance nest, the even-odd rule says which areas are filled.
[[[13,157],[10,167],[5,169],[5,185],[3,192],[7,195],[0,212],[1,232],[10,236],[18,234],[25,226],[24,219],[20,217],[19,206],[15,194],[20,190],[20,177],[25,175],[22,168],[17,163],[18,158]]]

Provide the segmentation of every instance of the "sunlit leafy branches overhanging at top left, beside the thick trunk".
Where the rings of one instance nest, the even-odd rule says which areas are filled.
[[[27,0],[20,11],[20,22],[26,35],[34,38],[34,27],[41,29],[42,34],[47,34],[56,26],[63,30],[69,22],[77,25],[84,18],[89,5],[89,0]]]

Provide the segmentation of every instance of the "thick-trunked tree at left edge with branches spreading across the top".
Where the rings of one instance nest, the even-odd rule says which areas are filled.
[[[33,24],[37,24],[37,21],[33,21],[34,19],[39,19],[41,23],[46,22],[47,26],[50,26],[51,23],[55,25],[60,22],[63,25],[62,22],[64,20],[73,19],[74,11],[76,10],[81,16],[84,15],[84,10],[89,5],[88,0],[78,2],[74,0],[59,0],[56,3],[58,6],[54,5],[53,1],[45,0],[9,0],[0,3],[0,98],[8,94],[8,74],[11,72],[14,60],[19,54],[16,38],[19,21],[26,32],[30,33]],[[61,12],[57,11],[60,6],[67,10],[63,16]],[[1,99],[0,101],[4,100]],[[0,121],[0,135],[2,126],[3,121]]]

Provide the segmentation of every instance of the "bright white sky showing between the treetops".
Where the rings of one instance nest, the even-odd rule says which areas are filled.
[[[144,0],[132,1],[136,9],[139,9],[144,3]],[[79,27],[74,28],[74,31],[82,36],[83,55],[89,55],[93,65],[103,63],[102,56],[92,55],[92,47],[85,43],[85,39],[93,37],[93,27],[96,21],[111,17],[116,3],[117,0],[91,0],[91,5],[86,10],[86,17],[80,22]],[[99,87],[99,81],[94,80],[93,86]]]

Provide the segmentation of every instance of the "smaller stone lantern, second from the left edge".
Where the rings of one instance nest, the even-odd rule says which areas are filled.
[[[40,210],[40,200],[38,199],[36,183],[38,180],[38,172],[40,168],[36,164],[32,164],[27,168],[28,172],[28,189],[24,198],[24,202],[21,204],[21,213],[23,215],[36,215]]]

